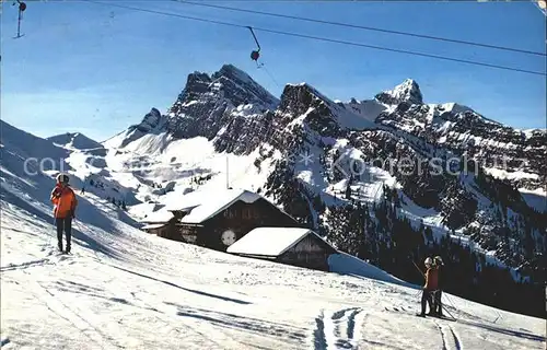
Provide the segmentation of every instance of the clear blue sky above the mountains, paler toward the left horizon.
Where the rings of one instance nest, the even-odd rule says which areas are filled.
[[[117,1],[278,31],[545,71],[545,57],[245,14],[171,1]],[[545,52],[545,16],[529,2],[217,1],[358,25]],[[406,78],[427,103],[458,102],[517,128],[546,127],[545,77],[257,32],[272,80],[249,59],[248,31],[81,1],[2,9],[1,118],[37,136],[80,131],[102,141],[165,112],[193,71],[233,63],[275,95],[307,82],[333,100],[372,98]],[[278,85],[277,83],[280,85]]]

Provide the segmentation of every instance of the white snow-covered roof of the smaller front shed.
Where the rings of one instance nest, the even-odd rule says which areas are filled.
[[[255,256],[280,256],[296,245],[309,234],[317,236],[310,229],[301,228],[258,228],[228,247],[228,253]],[[325,242],[325,241],[323,241]],[[328,244],[325,242],[325,244]]]

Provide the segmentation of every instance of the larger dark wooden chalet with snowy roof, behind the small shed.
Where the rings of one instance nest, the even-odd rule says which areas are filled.
[[[302,226],[266,198],[241,189],[197,190],[168,210],[174,220],[163,237],[221,252],[256,228]]]

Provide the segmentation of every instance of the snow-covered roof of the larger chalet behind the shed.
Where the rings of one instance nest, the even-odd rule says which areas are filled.
[[[167,210],[187,212],[181,219],[182,223],[202,223],[236,201],[254,203],[259,199],[267,200],[263,196],[246,189],[196,190],[182,196],[178,203],[167,207]],[[272,206],[275,205],[272,203]]]

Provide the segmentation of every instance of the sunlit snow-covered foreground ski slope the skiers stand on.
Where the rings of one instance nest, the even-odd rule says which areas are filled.
[[[545,348],[544,319],[447,294],[457,322],[418,318],[418,289],[162,240],[93,194],[57,255],[54,182],[2,144],[2,349]]]

